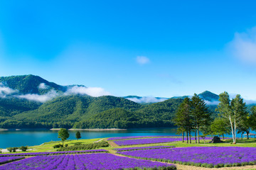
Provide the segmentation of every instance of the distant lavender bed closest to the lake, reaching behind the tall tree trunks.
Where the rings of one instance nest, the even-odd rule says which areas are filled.
[[[195,137],[192,137],[192,140],[195,140]],[[211,137],[206,137],[205,140],[211,140]],[[143,145],[143,144],[177,142],[177,141],[182,141],[182,137],[154,137],[154,138],[135,139],[135,140],[114,140],[113,142],[115,142],[119,146],[124,146],[124,145]]]

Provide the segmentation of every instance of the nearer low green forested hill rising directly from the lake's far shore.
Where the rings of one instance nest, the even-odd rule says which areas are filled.
[[[181,99],[141,105],[114,96],[61,96],[8,115],[1,128],[154,128],[171,126]],[[25,108],[24,108],[25,109]],[[4,110],[3,110],[4,111]],[[4,114],[3,114],[4,115]],[[6,115],[6,114],[5,114]],[[117,122],[116,122],[117,121]]]

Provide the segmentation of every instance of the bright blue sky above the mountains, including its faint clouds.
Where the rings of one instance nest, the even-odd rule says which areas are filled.
[[[1,1],[0,76],[256,99],[255,1]]]

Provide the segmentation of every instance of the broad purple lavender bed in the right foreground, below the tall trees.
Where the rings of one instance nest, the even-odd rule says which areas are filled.
[[[176,147],[117,152],[129,157],[208,168],[256,164],[255,147]]]

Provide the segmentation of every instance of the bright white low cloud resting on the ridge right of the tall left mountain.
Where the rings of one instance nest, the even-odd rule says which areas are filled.
[[[92,97],[109,96],[110,92],[105,91],[100,87],[85,87],[85,86],[73,86],[65,92],[65,95],[69,94],[82,94]]]

